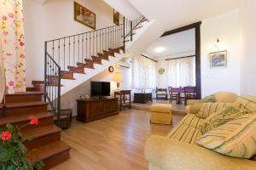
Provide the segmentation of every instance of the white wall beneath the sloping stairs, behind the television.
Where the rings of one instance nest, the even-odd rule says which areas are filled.
[[[120,83],[119,89],[131,89],[131,69],[127,68],[115,68],[114,71],[119,71],[124,79]],[[116,82],[112,82],[114,73],[110,73],[107,70],[102,71],[102,73],[96,75],[96,77],[91,78],[89,81],[86,81],[80,84],[77,88],[73,88],[61,96],[61,109],[72,109],[73,115],[77,115],[77,101],[81,95],[90,96],[90,81],[98,82],[111,82],[111,95],[113,96],[113,91],[117,89]]]

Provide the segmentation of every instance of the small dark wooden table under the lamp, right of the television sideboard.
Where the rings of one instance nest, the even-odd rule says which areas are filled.
[[[128,96],[128,103],[126,100],[126,96]],[[122,111],[124,105],[128,105],[131,109],[131,90],[121,90],[114,92],[114,98],[119,99],[119,110]]]

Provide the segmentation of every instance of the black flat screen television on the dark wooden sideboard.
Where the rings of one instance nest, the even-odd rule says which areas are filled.
[[[90,96],[110,96],[110,82],[90,82]]]

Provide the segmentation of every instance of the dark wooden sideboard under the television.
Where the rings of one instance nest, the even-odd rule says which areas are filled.
[[[92,122],[104,117],[118,115],[118,99],[77,99],[80,122]]]

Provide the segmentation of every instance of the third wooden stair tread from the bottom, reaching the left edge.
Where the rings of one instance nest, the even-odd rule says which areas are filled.
[[[32,116],[32,115],[33,116],[38,116],[39,122],[40,122],[40,119],[43,119],[43,118],[46,118],[46,117],[54,117],[54,115],[52,113],[49,113],[49,112],[19,115],[19,116],[3,116],[0,119],[0,124],[5,124],[7,122],[9,122],[9,123],[26,122],[26,121],[28,121],[28,117]]]

